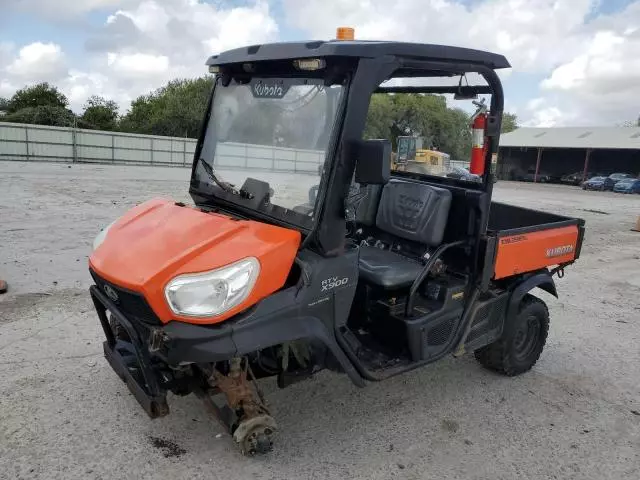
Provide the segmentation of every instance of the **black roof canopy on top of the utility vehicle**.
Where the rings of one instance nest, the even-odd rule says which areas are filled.
[[[308,57],[374,58],[383,55],[394,55],[420,60],[479,64],[493,69],[511,67],[503,55],[481,50],[447,45],[363,40],[281,42],[252,45],[227,50],[219,55],[213,55],[207,60],[207,65],[226,65],[231,63]]]

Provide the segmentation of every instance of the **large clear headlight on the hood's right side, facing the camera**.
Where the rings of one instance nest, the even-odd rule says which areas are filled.
[[[242,303],[260,273],[260,262],[248,257],[207,273],[180,275],[164,289],[173,313],[212,317]]]

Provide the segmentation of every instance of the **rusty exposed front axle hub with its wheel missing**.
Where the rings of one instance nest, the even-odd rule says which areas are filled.
[[[243,455],[270,452],[276,422],[265,405],[247,359],[231,359],[226,375],[214,368],[208,383],[224,394],[227,404],[220,407],[207,394],[203,398],[205,405],[233,435],[240,452]]]

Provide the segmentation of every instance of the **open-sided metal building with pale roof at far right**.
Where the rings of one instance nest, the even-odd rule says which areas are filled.
[[[640,176],[638,127],[523,127],[500,137],[501,179],[560,181],[574,175],[583,180],[617,172]]]

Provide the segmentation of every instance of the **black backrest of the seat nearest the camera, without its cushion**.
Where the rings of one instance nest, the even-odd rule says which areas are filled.
[[[392,181],[384,186],[376,227],[396,237],[438,246],[447,226],[451,192],[444,188]]]

